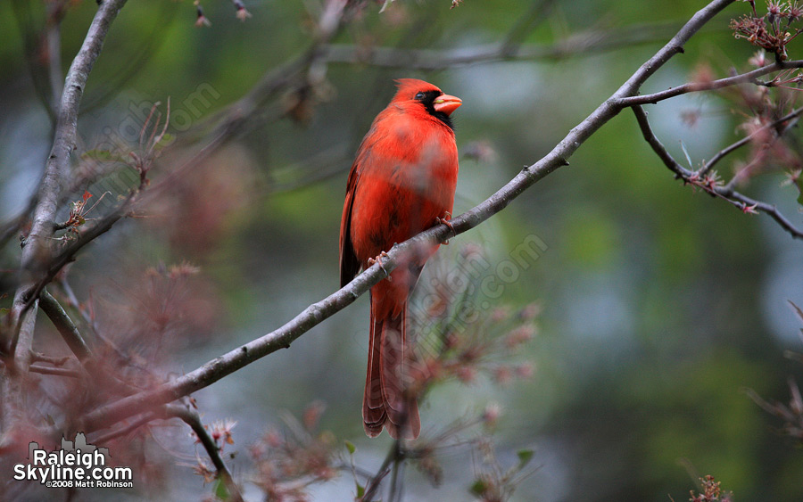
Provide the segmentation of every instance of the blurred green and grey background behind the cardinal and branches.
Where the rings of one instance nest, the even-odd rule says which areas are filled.
[[[138,298],[133,284],[147,267],[182,260],[201,267],[202,292],[195,293],[203,301],[185,319],[191,333],[167,342],[160,359],[166,371],[189,371],[335,291],[345,179],[360,138],[393,95],[393,78],[424,78],[463,99],[454,114],[464,153],[459,214],[549,152],[703,4],[554,2],[536,17],[526,45],[551,45],[588,30],[635,39],[609,48],[592,42],[558,59],[435,71],[331,63],[307,119],[272,119],[266,112],[266,123],[237,136],[188,170],[175,191],[143,208],[153,214],[120,223],[84,251],[70,271],[73,287],[79,298],[95,298],[103,321],[115,315],[115,298]],[[379,5],[369,3],[334,42],[469,51],[504,39],[531,9],[512,1],[449,5],[398,1],[379,13]],[[196,28],[191,2],[129,2],[89,78],[79,150],[95,148],[132,110],[169,96],[173,111],[184,110],[193,126],[184,134],[173,124],[171,131],[179,143],[192,144],[195,126],[203,128],[204,119],[227,110],[267,71],[302,54],[310,45],[306,9],[316,6],[252,0],[246,3],[252,18],[240,22],[229,2],[208,1],[203,7],[211,27]],[[745,69],[753,47],[733,39],[727,24],[747,10],[742,3],[726,9],[643,90],[679,85],[700,64],[716,76]],[[24,207],[51,142],[21,33],[41,28],[42,12],[37,2],[0,4],[4,219]],[[65,70],[94,12],[95,2],[84,0],[63,21]],[[794,45],[791,50],[794,58]],[[195,114],[185,100],[201,86],[208,106]],[[697,163],[741,137],[741,112],[721,95],[682,96],[648,111],[679,160],[681,142]],[[683,119],[689,113],[699,117],[693,125]],[[465,155],[477,148],[479,157]],[[799,380],[801,367],[783,351],[803,349],[801,325],[787,303],[803,304],[803,245],[765,215],[741,214],[676,182],[642,140],[630,111],[592,136],[570,162],[439,251],[438,266],[449,267],[463,246],[478,243],[495,267],[528,236],[547,246],[517,281],[505,284],[501,299],[489,300],[513,308],[541,304],[538,334],[522,354],[534,362],[534,375],[502,387],[479,378],[468,387],[436,389],[422,407],[425,433],[498,402],[502,464],[512,465],[518,449],[530,448],[538,467],[515,500],[684,500],[704,474],[738,500],[803,499],[800,450],[774,432],[780,423],[745,392],[786,400],[788,376]],[[732,165],[730,159],[719,166],[726,179]],[[163,162],[154,182],[170,169]],[[782,180],[782,173],[766,176],[745,191],[800,223],[797,190]],[[16,245],[6,245],[3,268],[16,267],[18,254]],[[135,318],[142,314],[129,310]],[[390,443],[385,434],[368,440],[360,424],[367,342],[366,296],[290,350],[197,392],[205,422],[238,421],[235,473],[248,471],[247,446],[278,423],[282,410],[299,415],[316,399],[327,403],[322,427],[352,440],[358,464],[376,470]],[[185,431],[161,433],[175,436],[172,449],[192,454]],[[445,451],[443,462],[445,479],[437,489],[407,470],[407,499],[469,497],[476,466],[461,450]],[[180,462],[170,467],[170,477],[177,481],[161,489],[166,499],[209,492]],[[352,490],[344,473],[313,488],[312,498],[346,500]],[[255,495],[246,490],[246,497]]]

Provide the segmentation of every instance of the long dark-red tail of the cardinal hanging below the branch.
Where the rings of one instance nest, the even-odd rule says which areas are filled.
[[[407,302],[395,315],[379,317],[375,315],[375,300],[371,298],[368,371],[362,398],[365,432],[374,438],[385,426],[393,439],[415,439],[421,431],[421,420],[416,398],[408,392]]]

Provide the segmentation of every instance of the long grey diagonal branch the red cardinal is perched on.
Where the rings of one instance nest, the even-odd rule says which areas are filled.
[[[618,99],[628,95],[635,95],[644,80],[650,78],[673,55],[683,52],[683,44],[717,12],[720,12],[732,2],[733,0],[715,0],[697,12],[669,43],[664,45],[648,62],[645,62],[636,70],[633,76],[611,98],[600,104],[591,115],[569,131],[568,135],[551,152],[532,166],[523,169],[507,185],[502,186],[499,191],[493,193],[487,200],[459,217],[451,219],[451,228],[445,225],[434,226],[410,238],[405,243],[393,246],[393,249],[388,252],[387,259],[381,265],[377,263],[368,267],[367,270],[356,276],[351,283],[328,295],[327,298],[313,303],[286,325],[218,358],[212,359],[203,366],[168,383],[163,383],[151,391],[143,391],[96,408],[81,419],[82,427],[87,431],[95,431],[115,424],[129,416],[146,413],[153,407],[170,403],[175,399],[203,389],[259,358],[289,347],[290,343],[309,331],[313,326],[335,315],[336,312],[350,305],[361,294],[368,292],[371,286],[384,279],[385,274],[392,271],[400,262],[403,262],[405,256],[415,253],[419,246],[428,248],[433,243],[443,243],[447,238],[467,232],[486,219],[491,218],[542,177],[549,175],[561,166],[567,165],[567,159],[580,145],[621,111],[621,106],[616,104]]]

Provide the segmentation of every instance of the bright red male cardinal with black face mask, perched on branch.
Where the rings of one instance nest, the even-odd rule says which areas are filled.
[[[451,215],[458,152],[450,115],[462,102],[423,80],[397,80],[398,91],[362,139],[346,187],[340,225],[340,284]],[[365,432],[416,438],[418,403],[405,382],[407,299],[426,259],[416,253],[371,288],[371,337],[362,402]]]

